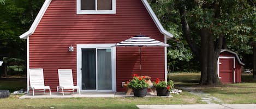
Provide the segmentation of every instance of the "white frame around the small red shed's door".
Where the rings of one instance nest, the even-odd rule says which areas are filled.
[[[219,59],[233,59],[233,69],[235,69],[236,67],[236,58],[234,56],[219,56],[218,57],[218,61],[217,61],[217,73],[218,73],[218,77],[219,79],[221,79],[221,77],[219,76],[219,65],[221,65],[222,63],[219,62]],[[236,82],[236,70],[233,70],[233,83]]]

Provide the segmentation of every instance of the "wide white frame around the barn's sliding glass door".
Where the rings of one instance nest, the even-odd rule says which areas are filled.
[[[116,92],[116,47],[115,44],[76,44],[76,78],[77,85],[82,89],[82,48],[111,48],[111,73],[112,89],[111,90],[81,90],[81,92]]]

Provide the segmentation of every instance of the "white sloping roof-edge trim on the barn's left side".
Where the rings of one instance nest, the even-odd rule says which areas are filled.
[[[37,14],[37,17],[35,17],[35,20],[32,23],[31,27],[29,28],[28,31],[26,31],[26,33],[23,33],[22,35],[20,35],[20,39],[27,39],[29,35],[34,33],[35,29],[37,28],[37,25],[39,24],[41,18],[44,16],[44,13],[46,9],[49,7],[50,3],[51,3],[51,0],[45,0],[42,8]]]

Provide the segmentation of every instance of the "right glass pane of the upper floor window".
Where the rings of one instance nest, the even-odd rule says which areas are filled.
[[[112,0],[97,0],[97,10],[112,10]]]

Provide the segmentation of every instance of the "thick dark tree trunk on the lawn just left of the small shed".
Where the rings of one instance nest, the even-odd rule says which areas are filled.
[[[217,75],[217,60],[222,47],[223,37],[220,36],[215,45],[214,36],[210,31],[203,28],[200,30],[201,35],[201,79],[200,85],[219,84]]]

